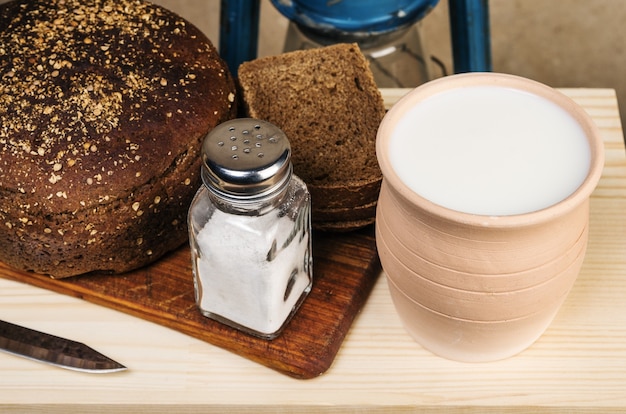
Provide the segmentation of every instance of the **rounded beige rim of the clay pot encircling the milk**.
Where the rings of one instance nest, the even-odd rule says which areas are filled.
[[[533,93],[548,99],[562,107],[576,120],[587,136],[590,148],[591,163],[585,180],[574,193],[561,202],[541,210],[524,214],[488,216],[464,213],[452,210],[420,196],[405,185],[392,168],[389,153],[386,150],[395,126],[405,112],[416,103],[440,92],[467,86],[500,86]],[[571,98],[542,83],[523,77],[491,72],[473,72],[451,75],[430,81],[410,91],[387,112],[378,128],[376,139],[376,155],[384,179],[392,191],[398,193],[409,203],[419,206],[429,214],[476,227],[512,228],[532,226],[560,217],[579,206],[589,198],[595,189],[604,168],[604,144],[598,127],[591,117]]]

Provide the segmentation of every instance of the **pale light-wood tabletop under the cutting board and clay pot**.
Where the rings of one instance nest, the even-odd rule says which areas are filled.
[[[385,91],[391,101],[398,91]],[[565,89],[601,129],[587,257],[528,350],[467,364],[403,329],[384,277],[322,376],[297,380],[171,329],[0,279],[0,319],[83,341],[129,367],[85,374],[0,353],[0,412],[626,412],[626,155],[613,90]]]

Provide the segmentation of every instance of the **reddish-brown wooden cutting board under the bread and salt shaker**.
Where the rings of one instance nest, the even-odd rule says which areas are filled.
[[[0,263],[0,277],[156,322],[300,379],[319,376],[332,365],[379,273],[373,226],[350,233],[315,233],[311,293],[283,333],[266,341],[200,314],[188,247],[123,275],[55,280]]]

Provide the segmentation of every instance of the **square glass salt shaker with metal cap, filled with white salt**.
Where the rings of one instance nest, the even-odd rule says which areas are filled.
[[[277,337],[312,285],[311,198],[275,125],[218,125],[202,146],[189,210],[196,303],[205,316]]]

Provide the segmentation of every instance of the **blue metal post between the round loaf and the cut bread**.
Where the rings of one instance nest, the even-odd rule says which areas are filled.
[[[219,52],[230,72],[257,56],[260,0],[221,0]]]

